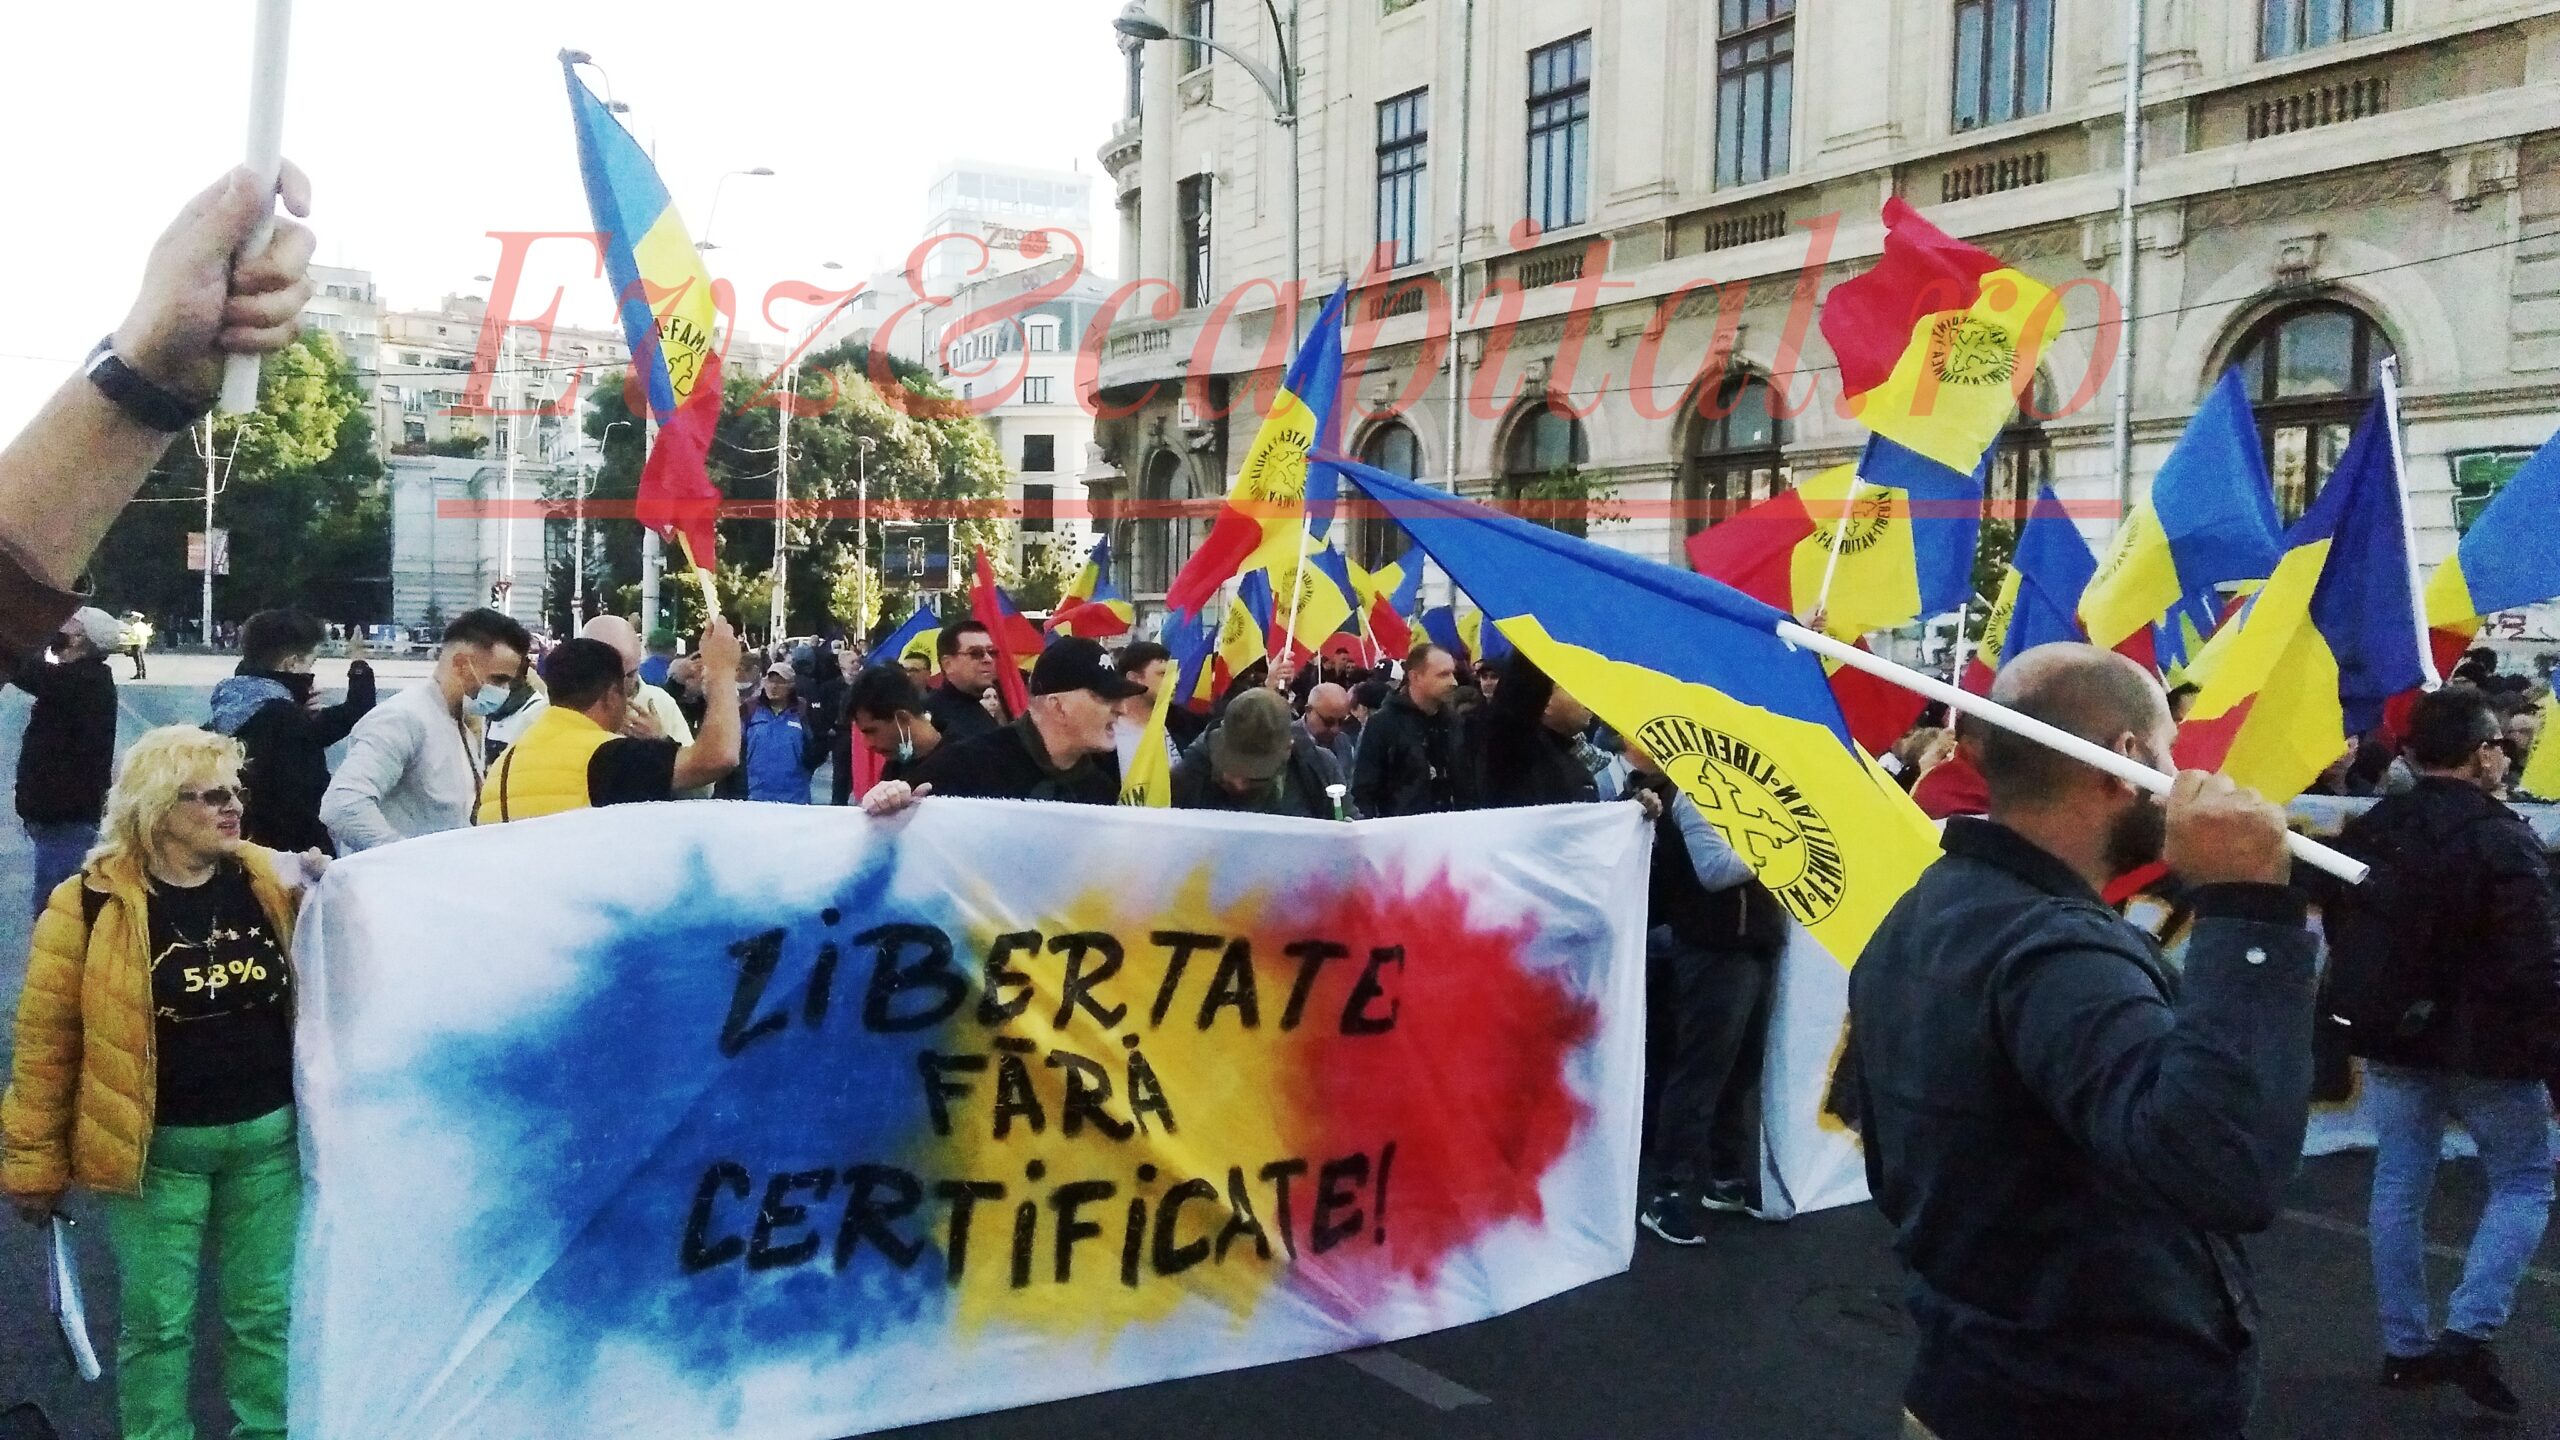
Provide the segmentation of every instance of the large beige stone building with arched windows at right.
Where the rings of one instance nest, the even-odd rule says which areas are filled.
[[[1277,67],[1265,5],[1144,3]],[[2440,559],[2560,428],[2560,3],[2143,0],[2130,364],[2102,343],[2125,3],[1298,0],[1306,290],[1349,279],[1364,346],[1349,446],[1464,495],[1574,466],[1618,497],[1595,538],[1677,561],[1715,502],[1856,454],[1805,300],[1874,261],[1900,195],[2068,284],[2045,418],[2002,438],[1994,505],[2043,479],[2140,497],[2243,366],[2299,512],[2396,356],[2417,543]],[[1101,159],[1149,282],[1091,341],[1088,482],[1213,497],[1288,351],[1249,282],[1290,274],[1290,133],[1231,59],[1126,54]],[[1459,407],[1446,305],[1418,290],[1452,277]],[[2084,525],[2104,541],[2112,520]],[[1124,582],[1160,594],[1183,523],[1121,536]]]

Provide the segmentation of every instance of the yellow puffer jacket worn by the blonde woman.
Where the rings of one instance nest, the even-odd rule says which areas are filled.
[[[248,889],[292,953],[294,894],[279,879],[292,856],[241,846]],[[100,892],[90,925],[82,887]],[[0,1191],[82,1186],[141,1194],[159,1097],[151,1048],[151,920],[138,861],[90,866],[54,887],[36,917],[36,948],[18,997],[18,1051],[0,1099]]]

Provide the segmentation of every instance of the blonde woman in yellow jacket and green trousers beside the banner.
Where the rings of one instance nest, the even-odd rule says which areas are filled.
[[[328,863],[241,840],[241,743],[169,725],[108,792],[97,848],[36,920],[0,1102],[0,1191],[44,1220],[105,1202],[123,1279],[128,1440],[184,1440],[197,1273],[220,1253],[233,1435],[284,1435],[302,1171],[287,966],[294,894]]]

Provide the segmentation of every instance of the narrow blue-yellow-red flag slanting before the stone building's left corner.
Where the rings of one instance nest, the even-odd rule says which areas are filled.
[[[1298,543],[1308,523],[1331,512],[1331,484],[1308,495],[1311,451],[1334,451],[1339,443],[1341,400],[1341,307],[1349,290],[1334,290],[1316,315],[1316,328],[1298,346],[1272,410],[1262,420],[1236,487],[1226,495],[1226,507],[1208,528],[1201,548],[1183,561],[1183,571],[1165,589],[1165,610],[1198,615],[1221,584],[1249,569],[1290,569],[1298,564]]]

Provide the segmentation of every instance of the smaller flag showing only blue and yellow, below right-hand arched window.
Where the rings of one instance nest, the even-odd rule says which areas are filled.
[[[2217,584],[2276,574],[2276,489],[2240,372],[2227,372],[2107,546],[2079,602],[2089,643],[2161,664],[2153,628]]]

